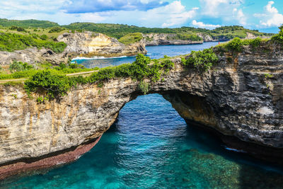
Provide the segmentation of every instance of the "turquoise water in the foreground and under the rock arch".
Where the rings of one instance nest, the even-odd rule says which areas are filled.
[[[283,171],[226,149],[187,125],[161,95],[150,94],[127,103],[79,160],[0,188],[283,188]]]

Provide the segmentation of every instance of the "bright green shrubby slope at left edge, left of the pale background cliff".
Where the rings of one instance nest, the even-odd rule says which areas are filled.
[[[0,50],[13,52],[14,50],[24,50],[27,47],[45,47],[56,53],[63,52],[67,45],[64,42],[54,42],[42,40],[37,35],[21,35],[16,33],[0,33]]]

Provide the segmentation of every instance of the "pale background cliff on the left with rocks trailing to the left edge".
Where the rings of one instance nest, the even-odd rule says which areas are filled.
[[[139,53],[146,54],[144,40],[131,45],[124,45],[115,38],[110,38],[101,33],[64,33],[59,35],[57,40],[67,44],[66,49],[62,53],[55,53],[45,48],[37,50],[36,47],[16,50],[15,52],[0,51],[0,65],[11,64],[13,60],[30,64],[45,61],[59,64],[60,62],[67,62],[69,58],[78,56],[119,57],[132,56]]]

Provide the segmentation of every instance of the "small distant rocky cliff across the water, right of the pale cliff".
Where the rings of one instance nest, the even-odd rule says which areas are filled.
[[[144,34],[144,40],[146,45],[190,45],[190,44],[202,44],[200,41],[192,40],[172,40],[177,34],[175,33],[149,33]]]

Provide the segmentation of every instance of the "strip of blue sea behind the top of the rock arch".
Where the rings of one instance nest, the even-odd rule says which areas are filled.
[[[218,42],[204,42],[202,45],[163,45],[163,46],[148,46],[147,56],[151,59],[159,59],[167,55],[169,57],[177,55],[187,55],[192,50],[203,50],[217,45]],[[117,66],[124,63],[134,62],[136,57],[116,57],[103,59],[76,59],[78,64],[83,64],[85,67],[109,67]],[[73,61],[74,62],[74,61]]]

